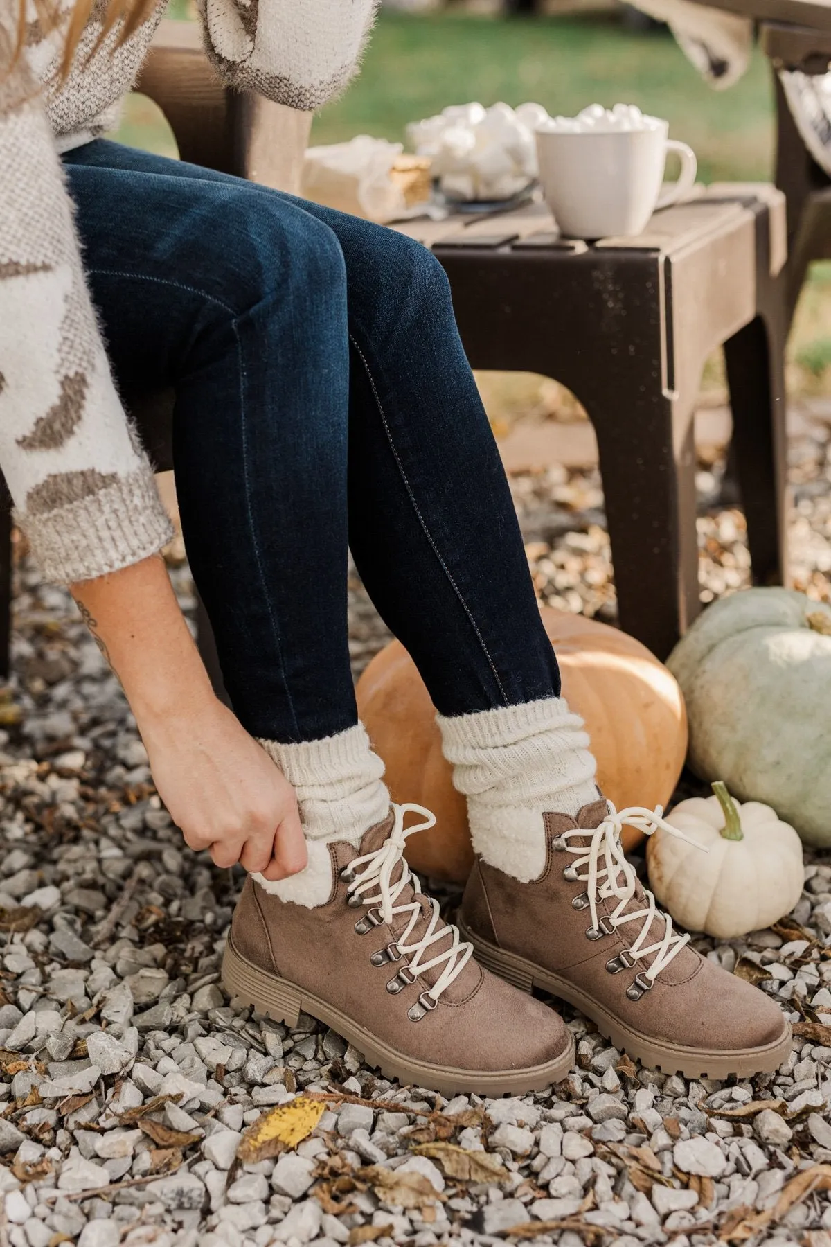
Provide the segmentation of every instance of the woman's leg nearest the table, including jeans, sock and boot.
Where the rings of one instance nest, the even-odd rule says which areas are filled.
[[[321,219],[349,287],[350,544],[425,676],[468,798],[477,862],[462,922],[477,953],[665,1071],[776,1069],[790,1049],[779,1008],[673,932],[597,799],[444,273],[390,231]],[[654,829],[644,814],[628,821]]]

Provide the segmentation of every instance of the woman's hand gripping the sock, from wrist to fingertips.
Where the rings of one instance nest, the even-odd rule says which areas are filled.
[[[292,784],[232,712],[211,701],[138,725],[158,794],[186,844],[218,867],[239,862],[265,879],[306,864]]]

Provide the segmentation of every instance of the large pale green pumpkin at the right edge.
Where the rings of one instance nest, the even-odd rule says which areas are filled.
[[[709,606],[669,661],[686,702],[689,763],[831,845],[831,607],[790,589]]]

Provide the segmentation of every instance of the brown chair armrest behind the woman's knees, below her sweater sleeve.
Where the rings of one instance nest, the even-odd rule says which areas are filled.
[[[182,160],[298,193],[311,113],[227,86],[197,22],[161,22],[136,90],[167,117]]]

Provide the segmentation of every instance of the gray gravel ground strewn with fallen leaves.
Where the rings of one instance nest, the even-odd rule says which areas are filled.
[[[797,574],[827,594],[826,444],[805,438],[792,446]],[[718,464],[701,469],[710,500],[718,476]],[[552,469],[513,488],[541,594],[612,619],[596,476]],[[705,506],[700,529],[705,592],[744,584],[738,513]],[[311,1019],[289,1030],[228,1000],[219,964],[242,874],[184,848],[67,595],[26,564],[17,575],[15,678],[0,698],[0,1247],[431,1247],[523,1241],[506,1237],[517,1225],[563,1247],[688,1247],[759,1215],[754,1242],[827,1247],[824,1191],[772,1213],[800,1170],[831,1163],[821,1031],[800,1036],[776,1075],[723,1085],[635,1067],[568,1011],[577,1069],[558,1087],[442,1105],[376,1076]],[[187,570],[173,576],[192,610]],[[359,671],[386,633],[354,577],[350,620]],[[699,945],[757,976],[794,1021],[831,1025],[825,860],[809,858],[789,924]],[[334,1099],[297,1151],[242,1163],[245,1127],[305,1089],[373,1102]],[[191,1136],[178,1151],[121,1120],[154,1096],[174,1100],[143,1121],[159,1139]],[[455,1120],[431,1125],[436,1106]],[[440,1158],[414,1153],[434,1136],[490,1152],[503,1177],[451,1178]],[[350,1190],[370,1166],[421,1181],[421,1206],[391,1203],[368,1181]]]

